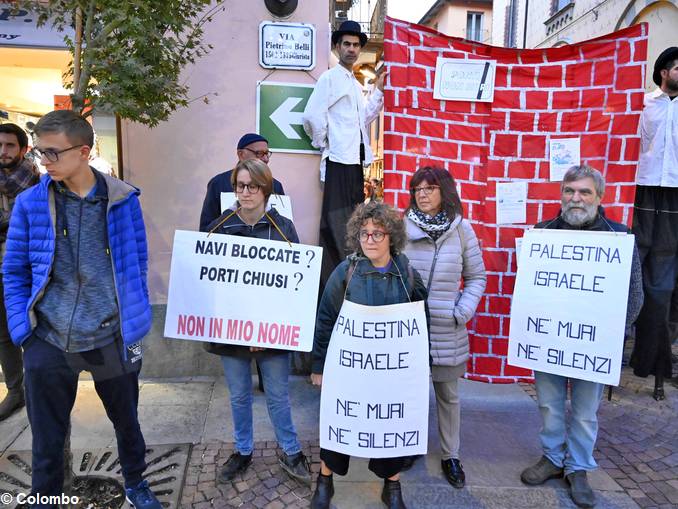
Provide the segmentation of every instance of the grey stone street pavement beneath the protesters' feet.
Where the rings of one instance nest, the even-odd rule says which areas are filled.
[[[522,485],[522,468],[540,455],[540,417],[530,385],[487,385],[463,381],[462,461],[468,485],[451,488],[440,474],[435,412],[431,412],[429,454],[403,474],[411,508],[572,508],[566,485],[552,480],[541,487]],[[678,507],[678,390],[669,383],[667,400],[651,398],[652,380],[625,370],[612,401],[603,401],[596,456],[601,469],[591,476],[600,508]],[[2,389],[4,391],[4,387]],[[291,379],[293,416],[304,451],[318,470],[316,388],[305,378]],[[0,394],[2,395],[2,394]],[[433,398],[431,408],[433,409]],[[286,476],[268,422],[264,396],[255,392],[255,458],[233,483],[218,484],[221,464],[232,452],[230,409],[221,379],[146,380],[139,415],[148,444],[193,444],[180,507],[308,507],[311,491]],[[25,412],[0,423],[0,452],[30,449]],[[112,447],[115,438],[91,382],[82,381],[73,411],[74,449]],[[1,475],[1,474],[0,474]],[[345,478],[335,477],[334,505],[383,507],[381,482],[354,459]]]

